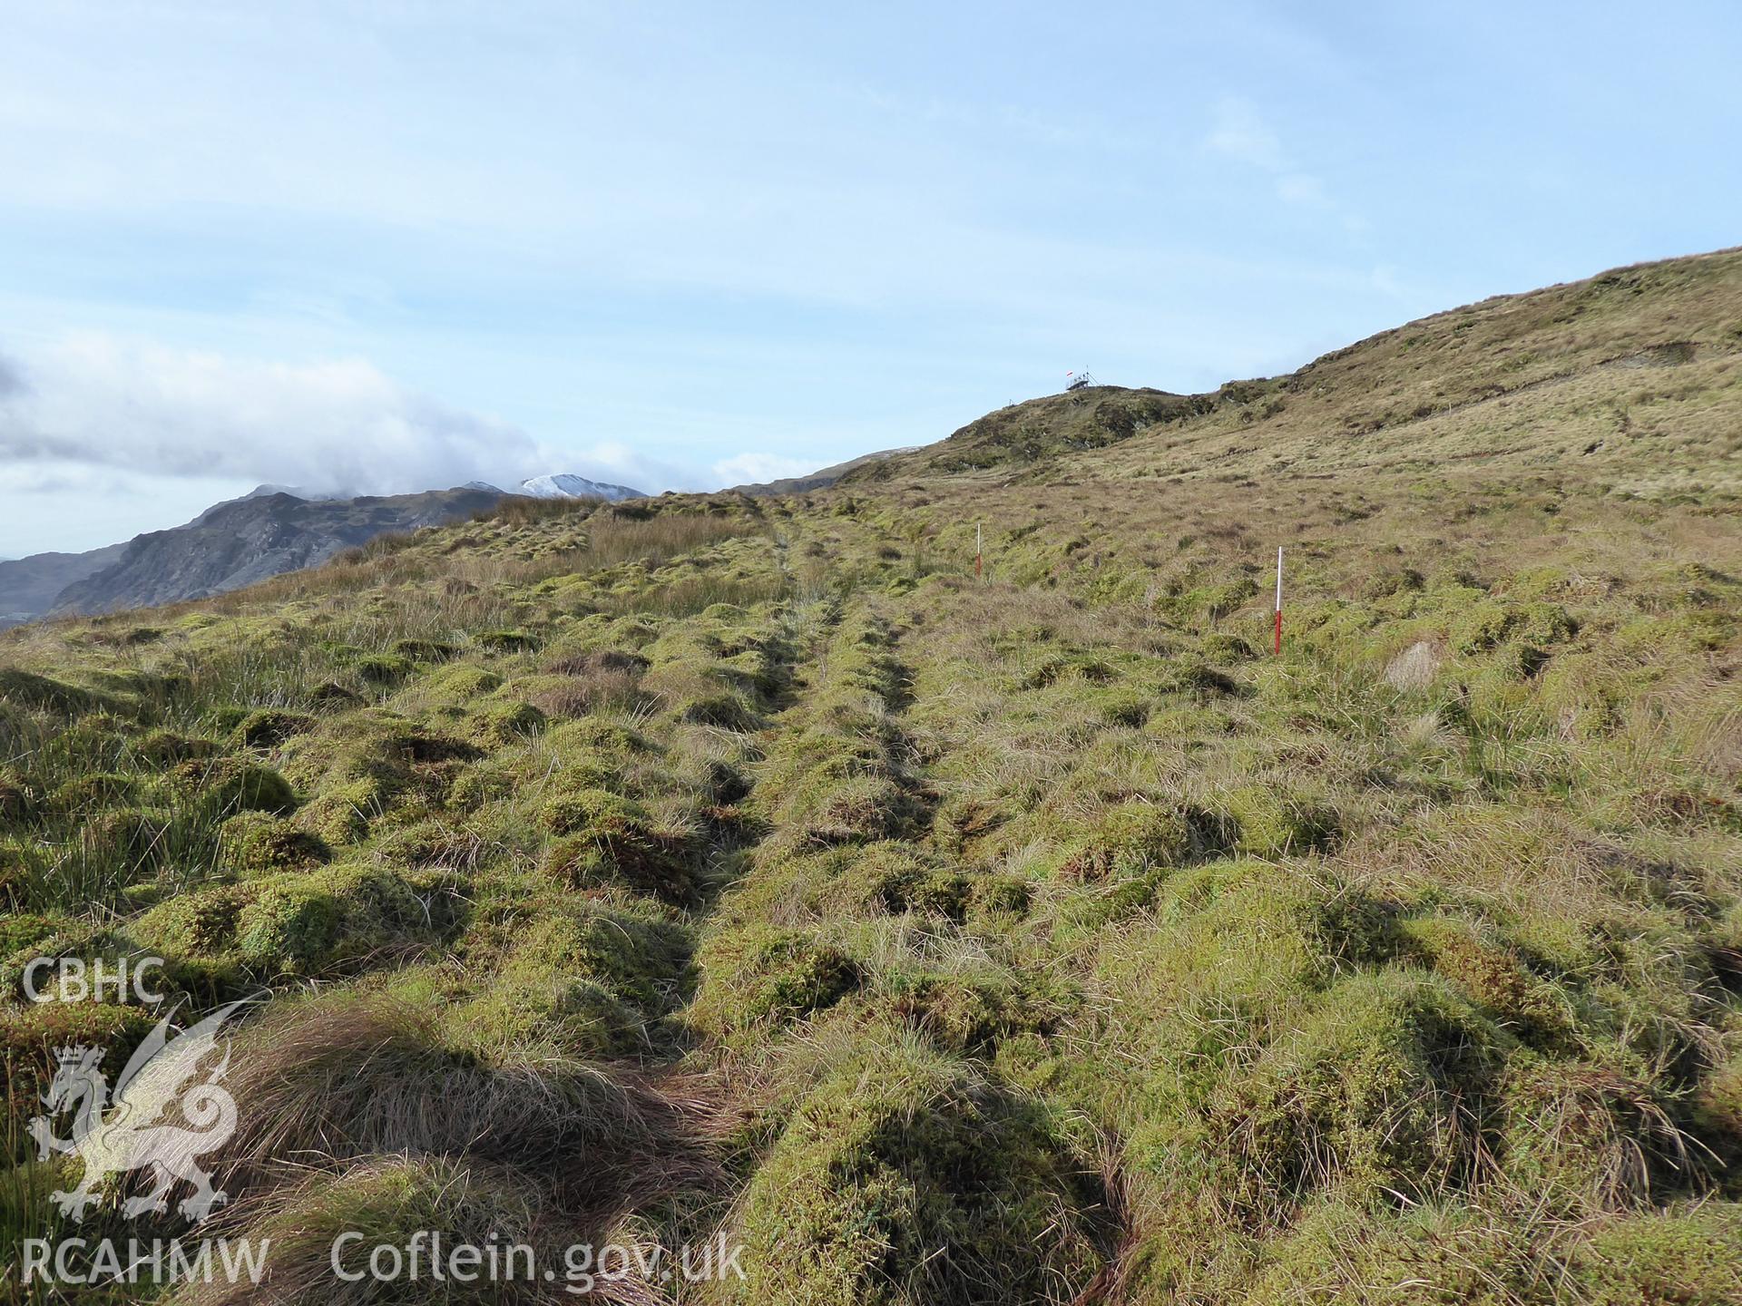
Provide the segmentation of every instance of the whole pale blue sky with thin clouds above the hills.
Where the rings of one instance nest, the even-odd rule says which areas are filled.
[[[1737,244],[1742,10],[9,5],[0,555],[711,488]]]

